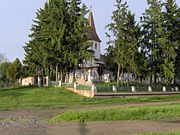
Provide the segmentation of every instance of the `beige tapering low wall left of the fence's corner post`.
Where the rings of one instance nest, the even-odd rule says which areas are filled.
[[[92,90],[78,90],[78,89],[76,90],[73,88],[67,88],[67,89],[74,92],[74,93],[77,93],[81,96],[91,97],[91,98],[93,98],[95,96],[95,92]]]

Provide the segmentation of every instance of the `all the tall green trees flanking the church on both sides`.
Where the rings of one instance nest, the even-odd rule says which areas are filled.
[[[140,22],[128,3],[116,0],[112,22],[106,26],[109,37],[105,67],[114,72],[117,83],[124,73],[139,81],[170,84],[180,79],[180,8],[175,0],[147,0],[148,8]],[[80,68],[93,56],[87,42],[86,14],[81,0],[49,0],[36,12],[30,40],[24,46],[23,66],[16,59],[0,65],[0,80],[14,81],[27,76],[49,76],[65,80],[66,74]]]

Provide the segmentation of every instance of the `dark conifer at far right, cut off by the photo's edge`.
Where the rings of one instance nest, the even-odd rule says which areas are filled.
[[[174,63],[175,76],[180,78],[180,10],[175,0],[166,0],[164,6],[165,28],[168,32],[168,39],[171,44],[174,44],[177,53]]]

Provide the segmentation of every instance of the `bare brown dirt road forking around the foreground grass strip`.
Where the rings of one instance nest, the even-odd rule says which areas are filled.
[[[179,101],[176,101],[179,102]],[[119,122],[60,122],[46,119],[67,110],[160,105],[163,103],[124,104],[44,110],[12,110],[0,112],[0,135],[133,135],[143,132],[179,131],[180,119],[169,121],[119,121]]]

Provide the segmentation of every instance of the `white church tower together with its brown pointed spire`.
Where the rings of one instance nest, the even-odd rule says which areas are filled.
[[[100,55],[101,40],[100,40],[100,38],[96,32],[96,27],[95,27],[92,11],[89,13],[88,26],[90,28],[90,30],[87,33],[88,42],[92,43],[91,50],[94,51],[94,59],[100,60],[100,57],[101,57],[101,55]]]

